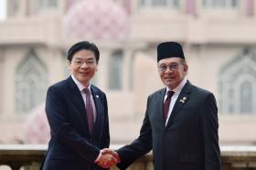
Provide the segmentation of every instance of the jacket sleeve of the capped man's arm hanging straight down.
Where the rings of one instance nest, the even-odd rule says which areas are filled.
[[[213,94],[209,94],[201,109],[201,125],[205,150],[205,170],[220,170],[218,108]]]

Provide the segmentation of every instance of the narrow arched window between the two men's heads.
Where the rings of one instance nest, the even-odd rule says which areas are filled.
[[[120,90],[122,88],[123,75],[123,51],[118,50],[112,53],[109,60],[109,83],[110,90]]]

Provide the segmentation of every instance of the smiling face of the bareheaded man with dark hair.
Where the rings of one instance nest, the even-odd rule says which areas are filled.
[[[94,53],[85,49],[76,52],[69,62],[69,70],[82,85],[88,86],[97,71]]]

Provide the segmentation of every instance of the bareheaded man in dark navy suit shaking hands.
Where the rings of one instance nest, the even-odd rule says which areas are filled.
[[[96,45],[82,41],[69,48],[71,75],[48,88],[46,113],[51,139],[43,170],[100,170],[110,145],[106,95],[91,85],[100,52]],[[101,165],[101,166],[100,166]]]

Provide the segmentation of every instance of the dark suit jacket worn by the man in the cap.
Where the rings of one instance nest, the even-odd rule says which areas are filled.
[[[153,149],[155,170],[220,170],[218,108],[213,94],[188,81],[165,126],[165,89],[147,100],[139,137],[117,152],[125,169]]]

